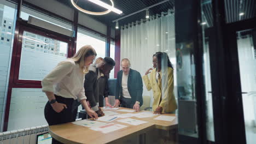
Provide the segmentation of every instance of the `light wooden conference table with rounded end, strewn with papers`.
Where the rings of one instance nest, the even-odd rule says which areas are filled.
[[[121,109],[126,108],[119,107],[118,110]],[[136,113],[109,109],[103,111],[114,111],[120,114]],[[175,116],[175,114],[162,115]],[[54,137],[54,139],[62,143],[176,143],[178,133],[177,117],[172,122],[170,122],[155,120],[154,118],[158,116],[159,115],[147,118],[130,117],[132,119],[138,119],[147,122],[140,125],[130,125],[117,122],[118,120],[124,118],[117,118],[112,122],[104,122],[128,126],[107,134],[101,133],[100,131],[90,130],[88,127],[83,127],[73,123],[51,125],[49,127],[49,133],[52,137]]]

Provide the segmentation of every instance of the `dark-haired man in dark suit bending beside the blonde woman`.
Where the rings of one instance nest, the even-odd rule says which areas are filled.
[[[99,97],[108,95],[108,74],[114,68],[115,62],[110,57],[105,57],[100,64],[91,64],[89,73],[85,75],[85,95],[90,103],[91,109],[98,116],[104,116],[99,107]]]

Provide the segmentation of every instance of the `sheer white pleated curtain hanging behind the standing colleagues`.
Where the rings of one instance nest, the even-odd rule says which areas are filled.
[[[176,93],[176,49],[174,14],[150,16],[145,23],[129,23],[121,29],[121,59],[128,58],[131,69],[143,76],[153,67],[152,56],[155,52],[166,52],[174,68],[174,93]],[[121,69],[121,68],[120,68]],[[152,97],[143,83],[143,96]],[[177,94],[176,94],[177,96]],[[153,100],[153,98],[151,99]],[[151,101],[152,104],[152,101]]]

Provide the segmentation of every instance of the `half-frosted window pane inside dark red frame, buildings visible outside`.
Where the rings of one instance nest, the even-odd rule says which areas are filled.
[[[40,51],[35,49],[36,45],[41,45],[41,47],[43,45],[51,45],[54,52]],[[42,80],[45,75],[56,67],[57,63],[67,58],[67,48],[68,44],[63,41],[24,31],[19,80]]]

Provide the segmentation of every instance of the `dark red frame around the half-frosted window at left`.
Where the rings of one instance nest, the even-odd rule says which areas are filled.
[[[68,44],[67,58],[72,56],[72,38],[63,34],[49,31],[48,29],[40,28],[28,24],[26,21],[17,21],[20,23],[19,35],[18,35],[18,45],[14,47],[13,55],[15,56],[15,69],[14,69],[14,87],[16,88],[42,88],[41,81],[38,80],[20,80],[20,62],[21,62],[21,51],[22,51],[22,36],[24,31],[32,32],[34,34],[42,35],[43,37],[52,38],[56,40],[63,41]]]

